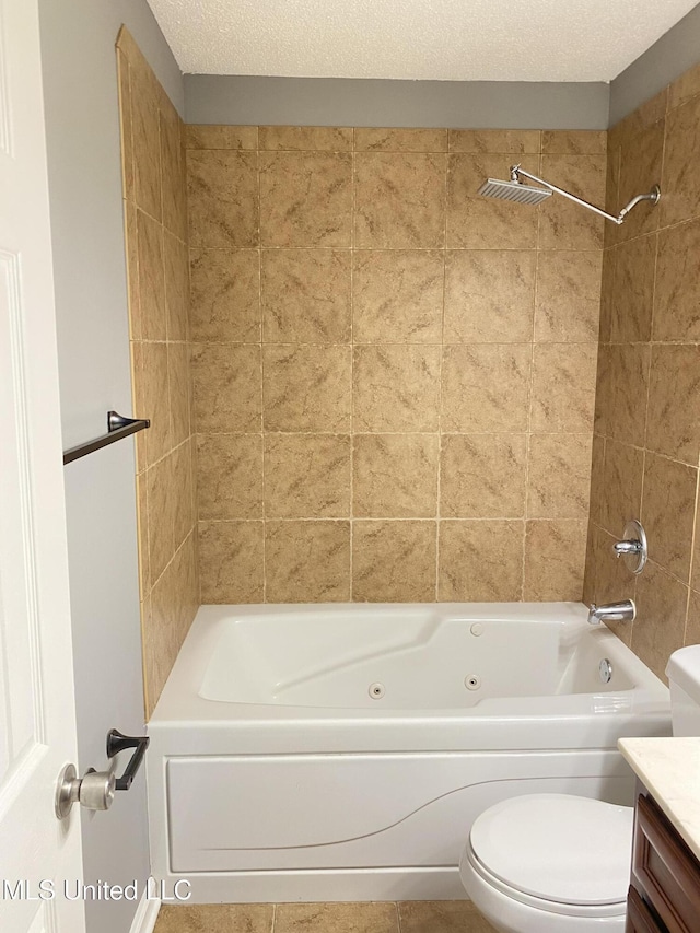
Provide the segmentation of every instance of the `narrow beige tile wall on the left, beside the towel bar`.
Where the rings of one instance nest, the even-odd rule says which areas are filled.
[[[124,27],[117,62],[148,716],[199,606],[184,130]]]

